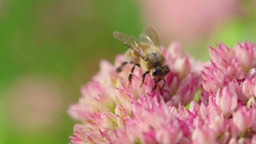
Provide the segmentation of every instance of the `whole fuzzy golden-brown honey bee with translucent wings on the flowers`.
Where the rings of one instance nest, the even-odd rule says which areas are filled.
[[[144,84],[146,74],[150,73],[151,78],[154,79],[154,87],[151,92],[155,90],[158,82],[164,80],[164,77],[170,72],[168,66],[164,66],[165,58],[160,50],[156,30],[152,27],[146,27],[142,34],[140,34],[139,40],[122,32],[114,32],[113,34],[118,41],[130,48],[125,52],[126,62],[122,62],[121,66],[116,69],[116,72],[121,72],[126,64],[133,64],[128,78],[131,83],[134,68],[138,66],[144,70],[140,87]],[[166,81],[164,80],[161,89],[165,84]]]

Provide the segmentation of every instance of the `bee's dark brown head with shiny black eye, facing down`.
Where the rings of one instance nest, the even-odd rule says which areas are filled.
[[[166,76],[170,72],[168,66],[164,67],[156,67],[152,69],[151,77],[155,80],[162,79],[164,76]]]

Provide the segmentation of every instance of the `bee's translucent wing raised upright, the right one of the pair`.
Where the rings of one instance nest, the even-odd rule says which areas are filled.
[[[156,30],[152,27],[146,27],[142,34],[140,34],[140,41],[146,42],[150,45],[155,45],[159,47],[159,38]]]

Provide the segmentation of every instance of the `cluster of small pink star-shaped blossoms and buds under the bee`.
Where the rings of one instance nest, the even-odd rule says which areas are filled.
[[[120,73],[102,61],[100,72],[82,87],[82,97],[68,113],[80,124],[70,136],[73,144],[250,144],[256,143],[256,47],[242,42],[230,49],[209,48],[210,62],[182,53],[173,43],[161,48],[170,73],[153,92],[154,81],[131,66]],[[200,91],[199,100],[194,100]],[[189,104],[189,108],[185,106]]]

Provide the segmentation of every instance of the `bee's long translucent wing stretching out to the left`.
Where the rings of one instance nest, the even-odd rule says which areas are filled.
[[[142,57],[144,60],[147,60],[144,51],[142,50],[142,48],[140,48],[138,46],[138,39],[133,37],[133,36],[129,36],[127,34],[124,34],[122,32],[114,32],[114,37],[119,41],[122,42],[122,44],[128,46],[129,48],[131,48],[132,50],[134,50],[134,52],[136,52],[140,57]]]

